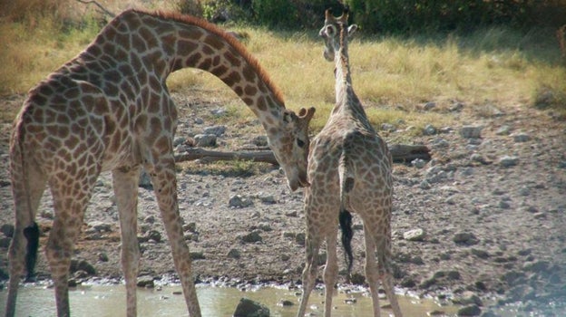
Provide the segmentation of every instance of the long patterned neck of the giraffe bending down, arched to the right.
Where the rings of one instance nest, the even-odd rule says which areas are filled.
[[[157,34],[171,48],[169,72],[192,67],[210,72],[226,83],[267,128],[281,120],[283,97],[266,72],[232,35],[188,16],[142,14],[143,21],[164,30]],[[165,76],[169,75],[166,73]]]

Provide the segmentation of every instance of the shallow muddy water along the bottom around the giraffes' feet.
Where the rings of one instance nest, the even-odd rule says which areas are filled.
[[[295,316],[298,310],[299,291],[276,287],[262,287],[247,292],[236,288],[212,287],[199,285],[197,288],[200,309],[203,316],[231,316],[242,297],[258,301],[268,306],[271,316]],[[0,306],[5,305],[6,291],[0,292]],[[175,294],[174,294],[175,293]],[[337,293],[334,297],[334,316],[368,316],[371,315],[371,299],[366,293]],[[346,298],[356,298],[356,303],[345,303]],[[405,317],[422,317],[427,312],[442,311],[446,315],[454,315],[455,307],[441,307],[431,300],[418,300],[407,296],[397,296]],[[281,300],[295,303],[292,306],[281,306]],[[81,286],[70,292],[71,313],[73,316],[122,316],[125,314],[125,287],[123,285]],[[381,300],[384,305],[387,301]],[[322,315],[324,308],[321,292],[313,291],[307,312],[315,316]],[[1,309],[0,311],[4,311]],[[18,292],[16,307],[18,316],[43,317],[55,314],[54,290],[39,286],[22,286]],[[387,316],[391,310],[382,309]],[[181,287],[163,286],[159,289],[138,289],[139,316],[186,316],[187,307]]]

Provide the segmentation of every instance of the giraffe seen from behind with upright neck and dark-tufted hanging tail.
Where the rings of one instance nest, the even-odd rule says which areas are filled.
[[[347,26],[347,13],[336,18],[327,10],[325,25],[319,33],[326,43],[325,58],[336,62],[336,105],[325,127],[313,139],[308,156],[311,185],[305,188],[307,261],[302,276],[303,295],[298,316],[304,316],[307,309],[308,296],[317,277],[318,249],[325,240],[325,316],[330,316],[338,272],[338,220],[348,274],[352,266],[352,216],[348,210],[356,212],[364,222],[366,278],[374,316],[379,316],[379,280],[384,285],[395,316],[401,316],[390,267],[392,159],[385,141],[367,120],[366,112],[352,88],[347,39],[354,34],[356,27],[356,24]]]

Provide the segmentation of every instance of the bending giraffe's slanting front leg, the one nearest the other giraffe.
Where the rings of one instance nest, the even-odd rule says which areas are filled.
[[[179,214],[177,181],[172,155],[167,160],[167,164],[156,165],[150,171],[150,176],[153,190],[157,195],[161,217],[169,237],[173,262],[181,279],[181,286],[189,314],[192,317],[200,317],[199,300],[190,268],[189,245],[187,245],[183,237],[182,221]]]

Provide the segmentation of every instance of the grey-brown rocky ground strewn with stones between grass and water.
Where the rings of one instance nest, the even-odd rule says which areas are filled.
[[[221,104],[176,94],[181,111],[177,142],[211,126]],[[21,97],[0,101],[21,102]],[[0,108],[4,105],[0,103]],[[393,248],[395,283],[404,292],[432,295],[494,315],[494,305],[519,302],[519,315],[566,312],[566,124],[527,106],[454,104],[454,126],[434,122],[415,138],[433,159],[395,164]],[[222,128],[223,127],[223,128]],[[261,143],[259,124],[232,122],[217,129],[217,149]],[[385,126],[385,139],[405,128]],[[7,278],[13,220],[7,172],[10,125],[0,139],[0,279]],[[254,132],[255,131],[255,132]],[[480,132],[481,131],[481,132]],[[473,133],[478,133],[473,135]],[[194,274],[200,281],[299,283],[303,262],[302,192],[291,193],[282,173],[267,164],[181,163],[179,202]],[[73,258],[74,281],[95,275],[118,280],[120,235],[109,174],[100,178]],[[45,234],[53,219],[46,193],[37,220]],[[139,192],[142,274],[173,276],[167,237],[151,184]],[[354,272],[363,273],[361,223],[355,217]],[[324,258],[324,256],[322,256]],[[323,259],[321,259],[323,260]],[[344,263],[340,263],[344,267]],[[40,278],[48,278],[42,253]],[[344,281],[344,276],[341,276]],[[358,279],[359,280],[359,279]],[[236,281],[236,282],[234,282]]]

